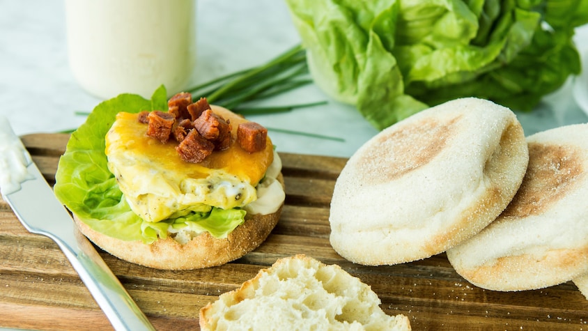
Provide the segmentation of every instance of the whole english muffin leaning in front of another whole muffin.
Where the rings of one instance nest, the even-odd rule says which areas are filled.
[[[334,187],[331,244],[364,265],[444,252],[500,215],[527,161],[523,128],[506,107],[463,98],[421,111],[350,157]]]

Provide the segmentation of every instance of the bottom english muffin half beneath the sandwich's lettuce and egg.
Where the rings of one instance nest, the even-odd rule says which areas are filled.
[[[281,174],[277,179],[284,185]],[[204,232],[186,244],[180,244],[170,237],[150,245],[140,241],[119,240],[94,231],[75,215],[74,220],[88,239],[119,259],[150,268],[191,270],[222,265],[256,249],[276,226],[282,206],[268,215],[247,214],[245,222],[224,239],[214,238]]]

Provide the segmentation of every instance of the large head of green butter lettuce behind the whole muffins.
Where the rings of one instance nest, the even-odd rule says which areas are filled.
[[[588,0],[286,0],[316,84],[376,128],[467,96],[528,111],[580,72]]]

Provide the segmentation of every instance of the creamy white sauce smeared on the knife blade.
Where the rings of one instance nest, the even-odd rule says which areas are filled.
[[[32,178],[26,169],[31,163],[28,155],[8,119],[0,116],[0,190],[3,195],[20,190],[20,183]]]

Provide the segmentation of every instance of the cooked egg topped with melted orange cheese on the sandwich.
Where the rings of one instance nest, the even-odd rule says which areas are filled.
[[[238,123],[246,121],[222,108],[213,111],[230,119],[233,140]],[[264,151],[247,153],[239,144],[215,151],[201,163],[180,159],[176,141],[162,144],[146,135],[137,114],[121,112],[106,136],[108,168],[134,213],[158,222],[211,206],[228,209],[256,201],[256,185],[274,160],[268,137]]]

